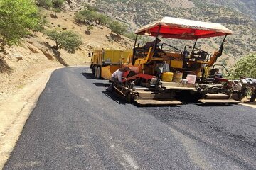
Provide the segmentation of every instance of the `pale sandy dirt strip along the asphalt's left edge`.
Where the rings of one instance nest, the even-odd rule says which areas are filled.
[[[47,69],[31,82],[0,103],[0,169],[9,158],[23,126],[46,86],[51,73],[59,67]]]

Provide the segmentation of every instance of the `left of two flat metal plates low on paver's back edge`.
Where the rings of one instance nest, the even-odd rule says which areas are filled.
[[[160,100],[160,99],[141,99],[137,98],[134,101],[140,105],[179,105],[183,104],[181,101],[177,100]]]

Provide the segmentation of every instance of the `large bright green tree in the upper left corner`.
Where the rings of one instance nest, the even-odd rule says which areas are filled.
[[[29,30],[39,28],[41,17],[33,0],[0,0],[0,50],[18,43]]]

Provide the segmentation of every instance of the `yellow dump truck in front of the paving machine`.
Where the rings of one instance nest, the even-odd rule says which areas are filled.
[[[122,64],[129,62],[132,50],[95,50],[92,52],[90,68],[97,79],[110,79],[111,74]]]

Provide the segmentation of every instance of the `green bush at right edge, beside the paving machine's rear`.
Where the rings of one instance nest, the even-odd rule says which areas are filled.
[[[242,57],[235,63],[231,70],[231,76],[234,79],[239,77],[252,77],[256,78],[256,54],[247,55]]]

